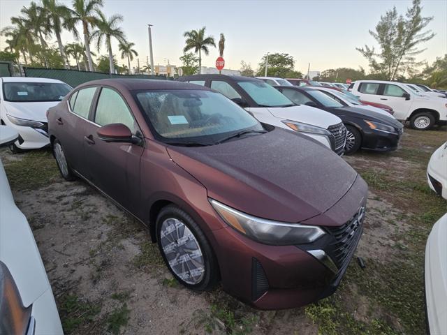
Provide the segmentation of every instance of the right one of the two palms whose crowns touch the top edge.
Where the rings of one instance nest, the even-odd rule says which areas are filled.
[[[85,54],[89,62],[89,70],[93,70],[93,61],[90,52],[90,31],[89,27],[96,27],[98,18],[96,10],[103,6],[103,0],[73,0],[73,13],[71,24],[82,23],[82,34],[84,35]]]

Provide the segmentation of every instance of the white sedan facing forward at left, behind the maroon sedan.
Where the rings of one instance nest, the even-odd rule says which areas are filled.
[[[15,128],[20,135],[15,143],[10,144],[13,153],[50,144],[46,112],[69,91],[71,87],[60,80],[0,78],[0,123]]]

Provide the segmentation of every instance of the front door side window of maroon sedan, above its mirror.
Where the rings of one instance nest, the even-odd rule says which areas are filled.
[[[132,133],[137,130],[135,120],[123,98],[116,91],[107,87],[101,89],[94,121],[100,126],[124,124],[129,127]]]

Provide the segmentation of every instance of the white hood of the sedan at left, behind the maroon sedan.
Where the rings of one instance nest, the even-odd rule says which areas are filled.
[[[47,122],[47,110],[57,105],[60,101],[47,101],[38,103],[11,103],[4,101],[6,114],[20,119]]]

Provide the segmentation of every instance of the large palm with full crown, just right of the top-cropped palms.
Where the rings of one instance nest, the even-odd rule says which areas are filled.
[[[124,31],[118,24],[122,22],[122,15],[115,14],[111,17],[105,17],[104,13],[100,10],[96,10],[98,13],[98,21],[96,26],[98,29],[91,34],[91,38],[96,38],[96,49],[101,49],[101,44],[105,42],[105,47],[109,53],[110,73],[115,73],[115,65],[113,64],[113,52],[112,52],[112,37],[115,37],[119,43],[126,43],[126,37]]]

